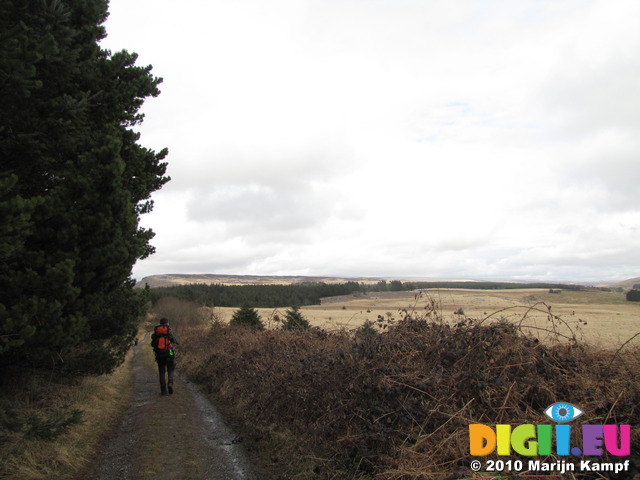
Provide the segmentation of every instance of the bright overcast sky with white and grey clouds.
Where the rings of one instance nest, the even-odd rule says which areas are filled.
[[[640,276],[640,2],[111,0],[161,273]]]

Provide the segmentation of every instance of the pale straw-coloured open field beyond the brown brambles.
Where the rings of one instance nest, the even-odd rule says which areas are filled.
[[[398,320],[402,310],[424,312],[429,299],[439,306],[443,320],[456,322],[464,317],[486,322],[508,320],[523,325],[549,329],[549,310],[560,317],[559,332],[571,335],[566,323],[578,338],[605,348],[617,348],[640,331],[640,304],[627,302],[623,293],[602,291],[562,291],[549,293],[545,289],[465,290],[435,289],[419,292],[382,292],[355,294],[324,299],[322,305],[302,308],[313,326],[329,330],[354,329],[365,321],[375,322],[378,316]],[[540,303],[544,302],[544,304]],[[533,307],[533,308],[532,308]],[[463,315],[454,312],[464,312]],[[215,309],[222,320],[229,320],[234,308]],[[274,314],[283,316],[286,309],[257,309],[267,324]],[[524,319],[523,319],[524,317]],[[585,323],[586,322],[586,323]],[[544,330],[532,330],[541,337]],[[640,337],[637,342],[640,343]]]

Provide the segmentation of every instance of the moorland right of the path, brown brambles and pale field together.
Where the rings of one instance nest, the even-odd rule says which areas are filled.
[[[560,399],[585,411],[574,437],[583,423],[640,423],[640,304],[624,292],[359,291],[303,306],[311,328],[293,331],[279,321],[289,307],[255,310],[263,330],[230,325],[238,307],[164,298],[153,312],[180,322],[182,371],[272,478],[489,478],[469,468],[469,425],[545,423],[542,412]],[[627,477],[597,478],[640,474],[640,457],[629,458]],[[541,476],[564,478],[520,472]]]

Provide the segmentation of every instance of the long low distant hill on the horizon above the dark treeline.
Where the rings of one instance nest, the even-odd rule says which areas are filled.
[[[220,283],[223,285],[290,285],[308,282],[332,283],[377,283],[383,278],[375,277],[311,277],[303,275],[225,275],[225,274],[185,274],[175,273],[166,275],[150,275],[144,277],[136,286],[144,287],[145,284],[151,288],[172,287],[174,285],[190,285],[194,283]]]

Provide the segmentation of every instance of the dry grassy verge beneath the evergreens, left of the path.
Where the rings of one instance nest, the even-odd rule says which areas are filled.
[[[0,478],[83,478],[129,404],[130,358],[111,375],[79,381],[22,378],[0,392]]]

